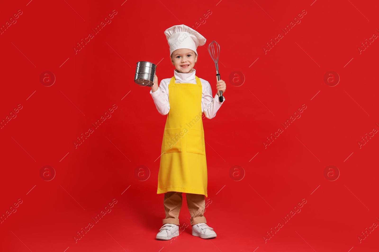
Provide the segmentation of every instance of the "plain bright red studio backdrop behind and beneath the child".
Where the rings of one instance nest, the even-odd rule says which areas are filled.
[[[379,42],[358,47],[379,34],[378,7],[356,0],[3,2],[1,26],[19,9],[22,14],[0,35],[0,119],[19,104],[22,109],[0,130],[0,214],[22,203],[0,224],[1,250],[377,251],[377,228],[361,242],[358,236],[379,224],[379,136],[362,146],[358,141],[379,129]],[[113,10],[111,23],[75,54]],[[284,35],[281,29],[303,10],[301,23]],[[196,74],[210,82],[213,96],[207,46],[219,43],[227,85],[216,117],[203,118],[205,217],[217,233],[210,240],[183,226],[190,217],[185,194],[179,237],[155,240],[164,218],[156,191],[166,116],[157,112],[150,88],[133,82],[141,60],[159,63],[158,83],[172,77],[163,32],[180,24],[195,25],[207,39],[197,49]],[[284,37],[265,54],[279,32]],[[39,79],[44,71],[56,78],[49,87]],[[234,71],[244,77],[230,81]],[[340,77],[334,87],[324,82],[328,71]],[[75,148],[114,104],[111,117]],[[266,138],[303,104],[301,117],[265,148]],[[52,169],[40,175],[45,165],[56,173],[50,181],[43,178]],[[135,175],[140,165],[146,167]],[[229,176],[235,165],[239,170]],[[337,180],[324,176],[328,165],[337,167]],[[113,199],[111,212],[75,243]],[[265,241],[302,199],[301,212]]]

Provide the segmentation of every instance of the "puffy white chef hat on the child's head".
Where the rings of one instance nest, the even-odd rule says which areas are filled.
[[[164,35],[170,46],[170,57],[172,52],[182,48],[191,49],[197,54],[197,46],[205,45],[207,41],[199,32],[186,25],[174,25],[166,29]]]

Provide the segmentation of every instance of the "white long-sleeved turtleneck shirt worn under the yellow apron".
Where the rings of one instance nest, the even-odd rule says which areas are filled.
[[[196,84],[195,79],[196,70],[192,69],[192,73],[178,73],[174,70],[175,83],[193,83]],[[216,93],[215,97],[212,97],[212,89],[209,82],[204,79],[200,79],[202,85],[202,96],[201,96],[201,112],[204,112],[208,119],[212,119],[216,116],[218,109],[225,102],[225,97],[223,102],[219,102],[219,96]],[[170,111],[169,96],[168,96],[168,84],[171,78],[162,79],[159,84],[158,89],[153,93],[150,90],[150,94],[153,97],[155,107],[160,114],[165,115]]]

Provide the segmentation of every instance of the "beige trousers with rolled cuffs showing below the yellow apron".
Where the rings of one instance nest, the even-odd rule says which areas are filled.
[[[163,205],[166,218],[163,219],[163,225],[169,223],[179,226],[179,212],[182,207],[182,199],[182,192],[164,193]],[[189,214],[191,215],[190,224],[207,223],[204,217],[205,196],[202,194],[186,193],[186,199]]]

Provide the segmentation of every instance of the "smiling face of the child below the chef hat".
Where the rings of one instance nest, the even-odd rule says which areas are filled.
[[[171,61],[179,73],[192,73],[197,55],[191,49],[177,49],[172,52]]]

